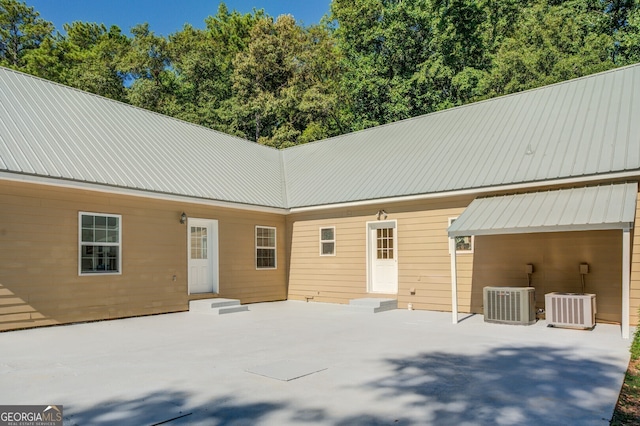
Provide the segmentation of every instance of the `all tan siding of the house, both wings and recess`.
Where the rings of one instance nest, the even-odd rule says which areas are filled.
[[[0,330],[188,309],[185,211],[219,224],[221,297],[243,303],[348,303],[367,293],[367,222],[384,209],[397,221],[399,307],[451,310],[446,229],[472,197],[443,198],[289,216],[0,181]],[[122,216],[122,275],[78,276],[78,211]],[[640,209],[638,210],[640,215]],[[277,268],[255,268],[255,226],[277,229]],[[335,227],[335,256],[320,256],[322,227]],[[640,238],[632,240],[631,324],[640,307]],[[460,312],[482,312],[482,287],[526,285],[533,263],[544,293],[580,291],[578,264],[590,264],[586,291],[598,319],[620,321],[621,232],[482,236],[458,254]],[[173,281],[173,276],[176,280]],[[287,289],[288,280],[288,289]],[[411,289],[415,291],[411,292]]]

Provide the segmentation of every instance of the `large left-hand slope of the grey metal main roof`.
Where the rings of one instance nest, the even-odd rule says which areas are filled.
[[[280,156],[0,68],[0,171],[282,208]]]

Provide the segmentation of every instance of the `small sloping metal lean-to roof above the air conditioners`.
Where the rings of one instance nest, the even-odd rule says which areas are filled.
[[[611,184],[476,198],[451,224],[450,237],[630,229],[638,184]]]

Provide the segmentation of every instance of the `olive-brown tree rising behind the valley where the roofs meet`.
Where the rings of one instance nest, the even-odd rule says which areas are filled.
[[[326,29],[303,29],[289,15],[260,18],[233,63],[230,127],[278,148],[332,135],[336,54]]]

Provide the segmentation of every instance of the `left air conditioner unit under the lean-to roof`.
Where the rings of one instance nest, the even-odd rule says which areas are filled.
[[[517,325],[536,322],[533,287],[485,287],[483,299],[485,322]]]

